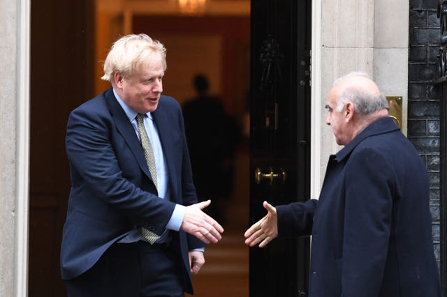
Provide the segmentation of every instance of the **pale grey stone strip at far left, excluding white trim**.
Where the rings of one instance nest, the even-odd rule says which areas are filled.
[[[0,296],[13,296],[15,242],[15,126],[17,7],[0,2]]]

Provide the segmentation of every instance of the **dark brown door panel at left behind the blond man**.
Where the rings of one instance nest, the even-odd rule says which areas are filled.
[[[61,297],[70,191],[64,139],[69,112],[93,96],[94,2],[31,2],[28,296]]]

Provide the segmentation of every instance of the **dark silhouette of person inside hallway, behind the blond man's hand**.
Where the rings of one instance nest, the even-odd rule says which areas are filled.
[[[186,139],[199,201],[211,199],[207,212],[226,222],[226,204],[233,190],[233,157],[242,137],[237,121],[217,96],[210,96],[205,75],[193,77],[197,96],[183,106]]]

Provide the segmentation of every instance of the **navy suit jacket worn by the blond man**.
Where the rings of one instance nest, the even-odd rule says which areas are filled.
[[[197,202],[181,107],[161,96],[152,116],[166,157],[170,200],[157,197],[138,137],[112,89],[71,112],[66,135],[71,193],[61,245],[64,280],[87,271],[112,243],[143,222],[162,231],[175,204]],[[185,291],[191,292],[188,252],[204,243],[182,230],[171,234],[178,237],[173,242],[179,243]]]

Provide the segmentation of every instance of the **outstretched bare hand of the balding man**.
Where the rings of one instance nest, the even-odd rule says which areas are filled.
[[[245,244],[251,247],[259,243],[259,248],[263,248],[278,236],[277,208],[267,201],[264,201],[263,206],[268,211],[267,215],[253,224],[244,234]]]

